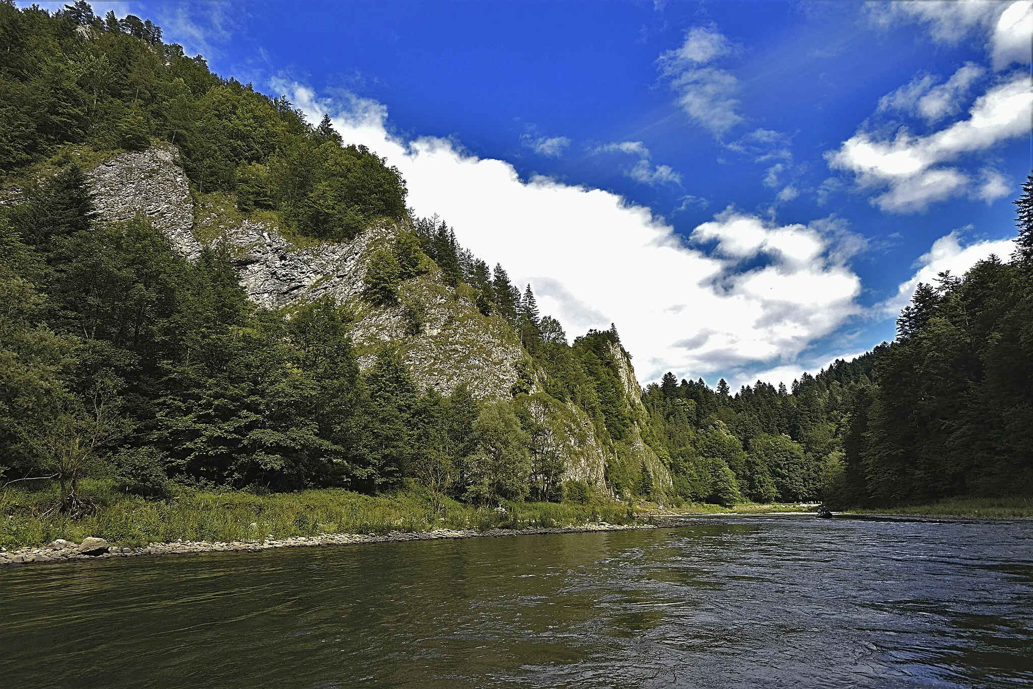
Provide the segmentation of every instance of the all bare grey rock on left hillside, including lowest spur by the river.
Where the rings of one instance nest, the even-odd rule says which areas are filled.
[[[448,286],[433,261],[425,274],[402,283],[397,306],[374,306],[362,299],[373,252],[389,246],[400,227],[380,224],[346,243],[291,242],[272,215],[245,216],[232,198],[193,193],[178,155],[174,147],[125,152],[90,171],[101,218],[142,215],[188,259],[196,258],[206,245],[223,244],[248,299],[257,306],[289,309],[322,296],[348,305],[356,317],[352,339],[362,368],[390,345],[401,351],[422,388],[447,395],[466,382],[478,398],[511,396],[518,367],[529,356],[503,318],[482,315],[475,293],[462,284]],[[416,328],[407,317],[413,309],[421,314]],[[601,442],[585,412],[535,389],[518,402],[544,429],[549,451],[563,459],[565,479],[607,491],[607,472],[640,473],[645,464],[662,492],[670,486],[670,476],[643,440],[646,412],[631,363],[619,345],[612,354],[635,421],[630,438],[614,445]]]

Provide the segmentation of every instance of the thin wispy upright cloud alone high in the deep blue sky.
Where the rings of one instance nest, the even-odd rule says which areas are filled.
[[[717,30],[693,27],[680,48],[660,56],[661,70],[678,94],[678,104],[693,122],[715,136],[725,134],[744,121],[737,112],[739,80],[730,71],[711,64],[735,50]]]

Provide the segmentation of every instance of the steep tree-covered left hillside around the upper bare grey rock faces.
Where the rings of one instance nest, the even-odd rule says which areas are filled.
[[[489,270],[444,222],[413,219],[398,171],[342,142],[328,118],[312,126],[285,99],[162,43],[150,23],[97,18],[84,2],[53,14],[2,2],[0,35],[6,479],[54,478],[72,512],[90,509],[87,475],[154,498],[190,487],[372,493],[410,479],[476,504],[662,492],[616,331],[569,345],[530,286]],[[97,212],[89,170],[162,146],[178,152],[199,214],[192,259],[149,218]],[[242,218],[302,249],[390,231],[358,300],[271,309],[241,286],[226,232]],[[518,370],[499,372],[516,381],[505,395],[416,384],[401,352],[430,314],[408,293],[439,282],[446,302],[475,304],[469,327],[501,319],[520,343]],[[402,318],[402,339],[356,350],[356,312]],[[460,311],[446,312],[443,326],[458,327]]]

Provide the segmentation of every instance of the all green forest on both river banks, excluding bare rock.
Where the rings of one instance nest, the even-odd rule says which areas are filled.
[[[438,218],[413,218],[398,170],[328,118],[213,74],[150,22],[85,2],[50,13],[0,1],[0,480],[48,476],[66,511],[87,475],[161,498],[176,487],[366,493],[416,481],[476,504],[593,491],[733,504],[890,505],[1033,493],[1033,178],[1019,248],[919,285],[895,342],[790,388],[732,394],[672,374],[629,403],[616,327],[568,342],[531,286],[511,284]],[[324,299],[248,302],[225,250],[178,255],[142,219],[102,222],[85,168],[177,147],[191,193],[222,194],[289,236],[349,241],[402,228],[363,299],[399,307],[427,270],[501,316],[527,354],[506,399],[419,389],[390,347],[361,371],[354,314]],[[404,306],[417,333],[422,314]],[[615,457],[606,486],[564,481],[540,408],[570,405]]]

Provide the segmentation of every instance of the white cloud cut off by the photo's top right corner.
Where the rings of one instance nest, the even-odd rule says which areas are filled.
[[[957,44],[975,37],[985,44],[995,69],[1030,61],[1033,36],[1033,0],[987,2],[985,0],[942,0],[886,2],[868,5],[877,24],[917,22],[934,40]]]

